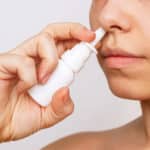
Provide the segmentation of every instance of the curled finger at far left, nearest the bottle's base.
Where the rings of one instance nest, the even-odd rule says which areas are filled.
[[[31,88],[37,83],[35,63],[32,59],[14,54],[0,55],[0,79],[7,80],[17,76],[18,92]]]

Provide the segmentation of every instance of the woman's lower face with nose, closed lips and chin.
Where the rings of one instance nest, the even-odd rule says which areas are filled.
[[[106,35],[98,60],[111,91],[122,98],[150,99],[150,0],[93,0],[92,29]]]

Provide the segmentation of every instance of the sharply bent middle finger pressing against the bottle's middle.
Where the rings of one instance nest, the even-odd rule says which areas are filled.
[[[32,57],[37,63],[38,82],[45,83],[58,64],[58,53],[54,40],[41,33],[16,48],[13,53]],[[37,61],[38,60],[38,61]]]

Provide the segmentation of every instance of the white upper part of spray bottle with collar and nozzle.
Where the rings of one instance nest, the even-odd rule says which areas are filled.
[[[93,42],[81,42],[62,55],[62,60],[73,72],[80,71],[92,52],[97,53],[95,46],[102,39],[105,32],[102,29],[98,29],[95,33],[96,38]]]

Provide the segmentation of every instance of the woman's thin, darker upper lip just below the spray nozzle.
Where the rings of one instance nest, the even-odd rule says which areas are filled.
[[[143,58],[143,56],[127,52],[125,50],[122,50],[120,48],[105,48],[100,50],[100,55],[103,58],[107,57],[137,57],[137,58]]]

